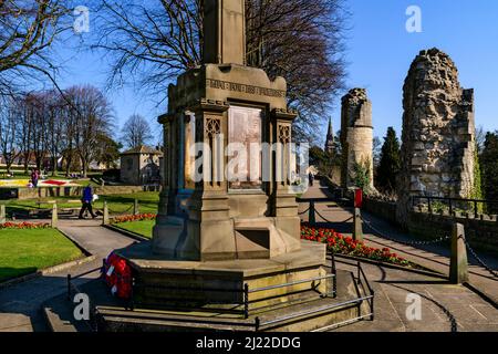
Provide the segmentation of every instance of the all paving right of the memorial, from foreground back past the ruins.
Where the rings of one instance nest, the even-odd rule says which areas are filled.
[[[319,183],[315,183],[303,196],[303,198],[326,197],[331,197],[328,188]],[[299,210],[302,212],[308,207],[309,205],[301,204]],[[353,221],[343,221],[352,217],[352,210],[339,207],[334,202],[317,204],[315,208],[326,220],[332,221],[324,222],[324,226],[331,227],[343,235],[351,236]],[[303,220],[308,220],[308,215],[303,215],[302,218]],[[371,215],[364,214],[363,218],[375,228],[373,230],[366,226],[364,227],[366,244],[377,248],[388,247],[401,257],[413,262],[443,274],[448,273],[448,246],[417,246],[417,248],[414,248],[388,241],[382,235],[401,241],[409,241],[414,240],[414,238]],[[317,216],[317,221],[322,222],[324,220],[320,216]],[[497,258],[486,254],[479,256],[483,256],[481,258],[491,268],[498,268]],[[454,326],[456,325],[453,329],[455,331],[498,331],[498,310],[465,287],[452,285],[444,279],[427,278],[425,275],[380,268],[366,263],[365,269],[367,270],[369,278],[374,280],[374,289],[378,291],[377,299],[380,303],[377,302],[377,309],[381,310],[377,316],[378,321],[375,321],[375,325],[363,322],[354,326],[359,331],[361,329],[365,331],[443,331],[448,330],[448,321]],[[474,262],[469,267],[469,270],[471,285],[498,303],[497,279],[492,278],[489,272],[476,266]],[[428,327],[426,326],[428,325],[427,323],[408,322],[406,320],[404,315],[406,311],[405,300],[406,295],[411,292],[423,295],[424,312],[427,313],[427,319],[430,320],[430,323],[435,323],[435,325]],[[439,310],[436,311],[437,309]],[[347,331],[347,329],[344,329],[344,331]]]

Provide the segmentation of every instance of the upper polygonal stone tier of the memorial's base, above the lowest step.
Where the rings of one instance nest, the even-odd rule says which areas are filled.
[[[207,262],[162,260],[148,243],[116,253],[134,271],[134,302],[143,308],[230,309],[229,312],[243,313],[246,284],[249,310],[284,303],[310,289],[321,294],[332,292],[331,283],[324,278],[330,273],[325,244],[320,243],[303,241],[299,251],[271,259]],[[293,285],[278,288],[288,283]],[[257,289],[268,290],[252,292]]]

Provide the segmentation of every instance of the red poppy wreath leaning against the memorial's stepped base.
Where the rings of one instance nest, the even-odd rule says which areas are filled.
[[[113,295],[125,300],[132,298],[132,269],[125,259],[112,252],[104,260],[102,277]]]

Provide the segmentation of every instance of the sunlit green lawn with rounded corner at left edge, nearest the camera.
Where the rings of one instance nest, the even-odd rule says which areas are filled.
[[[0,230],[0,282],[82,257],[55,229]]]

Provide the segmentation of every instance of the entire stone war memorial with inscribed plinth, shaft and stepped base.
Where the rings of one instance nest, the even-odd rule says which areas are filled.
[[[169,86],[159,118],[165,183],[152,242],[117,251],[136,274],[135,309],[164,310],[163,322],[123,323],[100,309],[108,331],[311,331],[356,316],[356,302],[339,301],[353,293],[350,273],[333,280],[325,244],[301,241],[289,175],[297,113],[287,108],[283,77],[245,65],[243,11],[242,0],[206,1],[204,64]],[[193,143],[209,148],[199,154]],[[227,180],[222,152],[234,143],[280,147],[247,159],[257,178]]]

